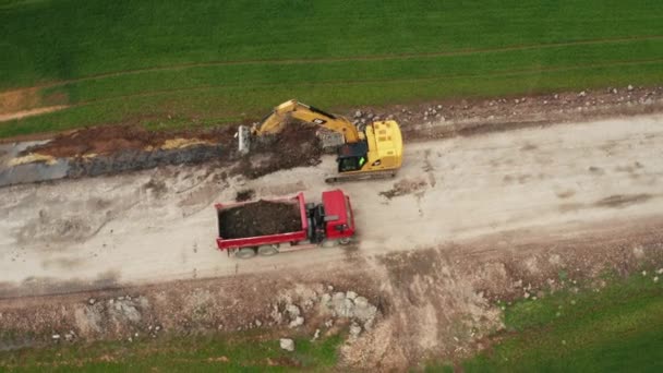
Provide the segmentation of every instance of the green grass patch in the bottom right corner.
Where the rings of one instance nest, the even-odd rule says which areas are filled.
[[[507,333],[466,372],[661,372],[663,285],[652,275],[562,291],[505,312]]]

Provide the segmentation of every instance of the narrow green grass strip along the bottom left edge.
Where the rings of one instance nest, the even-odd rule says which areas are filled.
[[[2,372],[284,372],[329,370],[343,337],[296,340],[296,351],[257,335],[64,344],[0,352]]]

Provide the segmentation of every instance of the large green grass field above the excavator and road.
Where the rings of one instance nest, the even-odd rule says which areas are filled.
[[[663,2],[0,0],[0,136],[663,82]],[[170,119],[168,119],[170,117]]]

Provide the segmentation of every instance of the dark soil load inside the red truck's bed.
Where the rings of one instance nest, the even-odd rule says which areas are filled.
[[[221,209],[218,214],[219,236],[224,239],[280,234],[302,229],[297,203],[261,200]]]

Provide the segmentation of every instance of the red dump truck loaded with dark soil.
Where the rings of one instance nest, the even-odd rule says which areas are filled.
[[[219,250],[240,258],[315,246],[348,244],[354,236],[352,205],[341,190],[323,192],[322,203],[292,197],[216,204]]]

